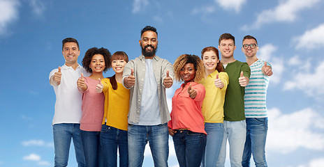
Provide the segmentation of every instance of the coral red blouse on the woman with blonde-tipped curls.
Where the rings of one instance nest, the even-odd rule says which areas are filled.
[[[194,99],[189,97],[189,84],[197,92]],[[201,112],[202,102],[206,94],[205,86],[196,82],[189,82],[184,88],[183,86],[184,84],[181,88],[175,90],[175,95],[172,97],[171,120],[168,122],[168,127],[171,129],[189,129],[192,132],[207,134]]]

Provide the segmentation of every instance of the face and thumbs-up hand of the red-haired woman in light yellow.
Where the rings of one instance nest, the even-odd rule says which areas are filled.
[[[205,53],[202,55],[202,62],[205,65],[205,73],[207,77],[209,74],[212,74],[216,70],[217,63],[219,63],[219,59],[216,56],[216,53],[214,51],[205,51]],[[223,88],[224,83],[219,79],[219,74],[216,75],[216,79],[214,80],[214,85],[217,88]]]

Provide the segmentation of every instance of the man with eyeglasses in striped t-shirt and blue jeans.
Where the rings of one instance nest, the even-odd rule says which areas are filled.
[[[266,61],[256,57],[258,42],[251,35],[242,41],[242,51],[246,63],[251,68],[250,82],[245,88],[244,108],[246,117],[246,141],[242,158],[242,166],[250,166],[253,154],[256,166],[267,166],[265,160],[265,141],[267,138],[267,106],[265,104],[267,86],[270,81],[272,67]]]

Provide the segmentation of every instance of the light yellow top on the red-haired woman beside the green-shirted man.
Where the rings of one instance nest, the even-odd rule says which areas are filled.
[[[214,85],[216,74],[219,74],[219,79],[223,81],[224,87],[217,88]],[[224,101],[226,88],[228,86],[228,74],[226,72],[218,72],[215,70],[212,74],[209,74],[207,78],[202,79],[200,84],[205,86],[206,95],[205,100],[202,102],[202,115],[205,122],[209,123],[223,123],[224,118]]]

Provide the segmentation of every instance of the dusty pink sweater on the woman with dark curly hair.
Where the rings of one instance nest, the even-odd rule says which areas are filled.
[[[80,120],[80,129],[84,131],[101,131],[101,122],[103,121],[103,107],[105,96],[103,93],[96,93],[98,81],[89,77],[84,77],[84,83],[87,84],[87,90],[82,92],[82,118]],[[76,83],[75,83],[76,84]]]

